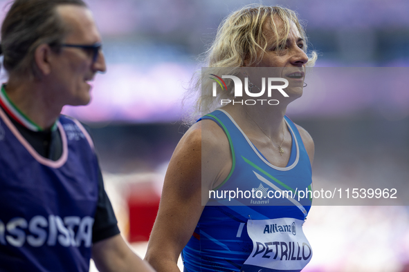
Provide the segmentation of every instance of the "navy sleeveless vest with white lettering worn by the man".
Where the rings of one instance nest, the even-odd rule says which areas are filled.
[[[98,162],[61,116],[62,156],[39,156],[0,108],[0,271],[89,271]]]

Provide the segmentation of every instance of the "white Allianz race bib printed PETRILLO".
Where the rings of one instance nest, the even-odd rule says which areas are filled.
[[[253,251],[242,272],[301,271],[311,260],[311,246],[302,232],[304,221],[294,218],[248,220]]]

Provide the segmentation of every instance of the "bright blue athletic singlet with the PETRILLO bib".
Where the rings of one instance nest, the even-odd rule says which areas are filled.
[[[211,195],[190,241],[182,251],[185,271],[300,271],[311,260],[308,242],[278,240],[257,244],[257,238],[252,240],[249,235],[254,231],[248,228],[249,222],[252,226],[253,222],[262,222],[264,235],[288,231],[291,236],[291,231],[296,235],[302,225],[296,227],[294,222],[304,222],[307,217],[311,194],[298,201],[296,191],[311,191],[311,163],[296,125],[284,117],[293,142],[289,164],[280,168],[264,158],[224,110],[215,110],[202,119],[212,119],[224,129],[233,154],[233,167],[228,178],[214,190],[223,193],[251,192],[253,189],[261,191],[258,196],[262,197],[246,198],[237,192],[238,198],[229,200],[227,196],[227,199],[219,200],[217,195]],[[286,197],[270,199],[266,195],[268,191],[292,191],[295,194],[291,200]],[[275,224],[264,224],[269,220]],[[283,220],[289,223],[280,223]],[[256,266],[244,264],[250,262],[253,255],[277,261],[273,266],[281,269],[264,269],[257,266],[257,262]]]

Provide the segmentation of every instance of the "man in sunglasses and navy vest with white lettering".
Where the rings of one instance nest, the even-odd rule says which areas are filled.
[[[91,137],[64,105],[106,70],[82,0],[15,0],[1,27],[0,270],[153,271],[120,236]]]

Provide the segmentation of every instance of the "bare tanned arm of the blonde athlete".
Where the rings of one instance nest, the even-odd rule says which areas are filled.
[[[201,123],[206,124],[206,129],[202,129]],[[179,271],[176,265],[179,254],[190,240],[204,208],[202,188],[210,190],[228,175],[224,170],[229,159],[226,135],[209,120],[192,126],[176,146],[145,257],[157,271]]]

